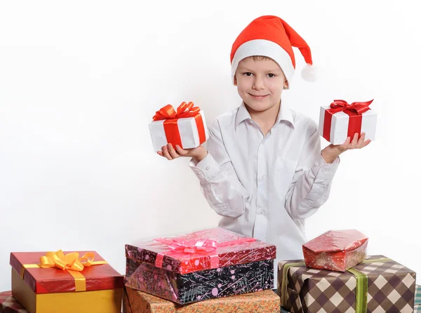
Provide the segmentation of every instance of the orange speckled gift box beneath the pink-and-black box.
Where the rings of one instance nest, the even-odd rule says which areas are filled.
[[[123,295],[123,312],[125,313],[279,313],[281,304],[279,296],[272,290],[232,295],[226,298],[215,298],[206,301],[179,305],[133,288],[125,288]]]

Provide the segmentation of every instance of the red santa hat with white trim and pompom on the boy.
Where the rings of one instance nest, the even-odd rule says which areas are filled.
[[[232,81],[234,82],[235,72],[241,60],[253,55],[262,55],[278,63],[290,84],[295,72],[293,47],[300,50],[307,63],[307,67],[302,69],[302,78],[306,81],[316,81],[312,52],[304,39],[277,16],[265,15],[256,18],[243,29],[232,45]]]

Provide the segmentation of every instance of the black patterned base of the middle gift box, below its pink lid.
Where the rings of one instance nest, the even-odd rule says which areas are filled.
[[[274,288],[274,260],[179,274],[127,259],[126,287],[186,304]]]

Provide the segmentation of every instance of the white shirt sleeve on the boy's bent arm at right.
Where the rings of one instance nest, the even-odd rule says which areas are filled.
[[[292,218],[305,219],[326,202],[339,157],[327,164],[321,156],[320,135],[312,121],[307,129],[293,182],[286,194],[285,208]]]

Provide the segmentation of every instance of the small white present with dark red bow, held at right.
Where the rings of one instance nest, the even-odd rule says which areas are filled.
[[[368,107],[371,101],[352,102],[334,100],[320,108],[320,135],[333,145],[342,145],[355,133],[366,133],[366,140],[374,140],[377,113]]]

